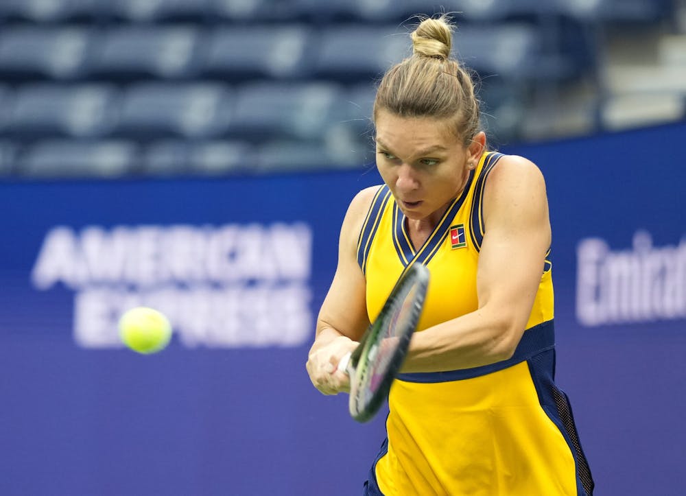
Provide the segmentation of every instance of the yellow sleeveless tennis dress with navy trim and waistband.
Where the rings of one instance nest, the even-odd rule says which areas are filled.
[[[431,281],[418,331],[475,311],[482,196],[502,157],[486,152],[425,244],[381,186],[359,235],[370,320],[403,270],[423,263]],[[590,496],[593,480],[565,393],[554,384],[553,285],[547,257],[527,330],[504,362],[394,381],[388,438],[366,491],[386,496]]]

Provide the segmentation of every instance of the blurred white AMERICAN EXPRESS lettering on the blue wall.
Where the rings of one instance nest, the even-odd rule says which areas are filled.
[[[163,311],[189,347],[299,346],[311,314],[307,224],[52,228],[32,270],[39,290],[76,292],[86,348],[120,346],[131,307]]]

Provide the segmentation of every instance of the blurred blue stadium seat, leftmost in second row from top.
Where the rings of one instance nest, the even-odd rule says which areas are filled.
[[[0,33],[5,80],[80,78],[97,41],[82,27],[8,27]]]

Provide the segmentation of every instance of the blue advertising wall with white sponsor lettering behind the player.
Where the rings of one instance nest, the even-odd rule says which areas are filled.
[[[682,495],[686,126],[504,148],[553,225],[557,380],[599,495]],[[675,151],[676,150],[676,151]],[[338,230],[373,169],[0,185],[1,495],[352,495],[383,414],[305,373]],[[171,345],[117,340],[123,309]]]

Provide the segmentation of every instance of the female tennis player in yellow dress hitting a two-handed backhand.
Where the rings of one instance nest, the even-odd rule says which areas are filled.
[[[377,90],[384,184],[360,191],[346,213],[309,376],[324,394],[346,392],[338,361],[403,269],[422,263],[423,314],[364,494],[590,496],[569,401],[553,381],[543,176],[486,147],[473,81],[450,57],[449,18],[425,19],[411,36],[414,54]]]

